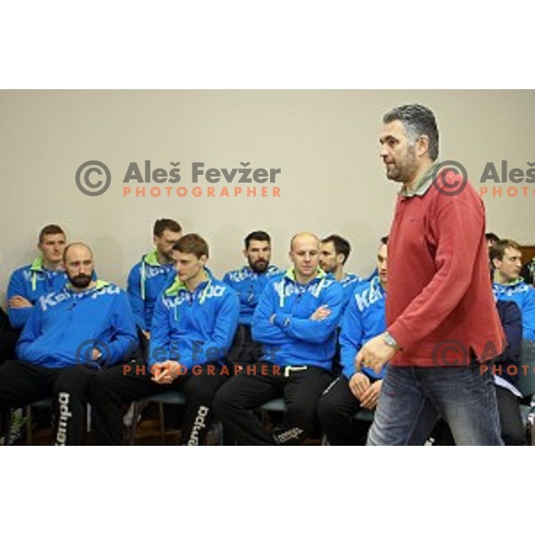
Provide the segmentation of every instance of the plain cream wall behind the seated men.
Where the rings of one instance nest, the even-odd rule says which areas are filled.
[[[161,217],[208,239],[217,275],[242,263],[243,236],[259,228],[273,236],[279,265],[297,231],[341,234],[354,248],[349,270],[367,275],[398,189],[378,157],[383,112],[414,102],[437,115],[440,159],[461,161],[478,187],[487,161],[535,161],[533,91],[1,91],[0,300],[49,223],[89,243],[99,275],[118,284]],[[111,169],[101,196],[75,185],[89,160]],[[193,161],[280,168],[281,198],[123,197],[128,164],[145,160],[165,169],[180,161],[188,189]],[[534,186],[525,198],[485,197],[489,229],[535,243]]]

